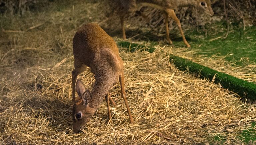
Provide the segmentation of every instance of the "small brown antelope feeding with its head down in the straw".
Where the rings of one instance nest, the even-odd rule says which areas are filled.
[[[134,123],[124,90],[124,66],[119,56],[115,41],[97,24],[88,23],[80,27],[73,38],[73,54],[75,69],[72,71],[72,100],[73,100],[73,130],[78,132],[89,122],[94,112],[105,97],[111,119],[109,90],[119,79],[121,94],[124,99],[129,119]],[[86,90],[77,75],[85,71],[86,67],[95,75],[92,91]],[[75,98],[75,90],[78,97]]]

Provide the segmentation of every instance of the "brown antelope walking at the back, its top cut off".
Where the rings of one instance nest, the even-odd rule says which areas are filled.
[[[120,0],[120,1],[121,3],[120,2],[117,2],[117,3],[121,4],[121,11],[119,13],[120,13],[120,19],[121,19],[121,25],[122,25],[123,39],[126,39],[125,28],[124,28],[124,16],[127,13],[136,12],[138,14],[141,14],[144,18],[147,18],[144,14],[139,12],[142,6],[153,7],[163,11],[165,15],[166,39],[170,44],[172,44],[172,41],[169,36],[169,26],[168,26],[168,15],[169,15],[178,25],[182,39],[187,47],[190,47],[190,45],[184,36],[183,30],[181,28],[180,20],[177,18],[174,12],[174,9],[177,9],[180,7],[194,6],[198,8],[200,11],[208,13],[209,15],[214,14],[211,8],[210,0]]]

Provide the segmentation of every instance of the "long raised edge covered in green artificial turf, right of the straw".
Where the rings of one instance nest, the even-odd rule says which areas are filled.
[[[201,78],[207,78],[210,81],[214,79],[214,83],[220,83],[223,88],[233,91],[241,97],[247,97],[252,100],[256,99],[256,85],[253,83],[222,72],[218,72],[216,70],[194,63],[188,59],[180,58],[174,55],[170,56],[170,62],[173,62],[173,64],[179,70],[189,70],[189,72],[198,74]]]

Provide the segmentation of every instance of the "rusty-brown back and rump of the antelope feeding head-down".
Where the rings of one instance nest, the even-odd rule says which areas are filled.
[[[104,50],[119,56],[115,41],[99,25],[95,23],[83,25],[73,38],[75,67],[78,64],[85,64],[93,69],[93,61],[100,57],[100,53]]]

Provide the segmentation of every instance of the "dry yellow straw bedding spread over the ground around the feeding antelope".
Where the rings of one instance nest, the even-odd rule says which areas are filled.
[[[78,5],[75,6],[79,8]],[[86,12],[97,6],[81,4],[87,8]],[[62,17],[63,13],[70,14],[72,19],[69,15]],[[82,23],[102,24],[100,13],[93,20],[92,13],[86,14],[78,15],[72,8],[54,15],[46,13],[37,16],[41,21],[38,23],[48,19],[38,30],[0,34],[5,38],[0,40],[3,44],[0,51],[1,143],[194,144],[213,143],[214,137],[225,138],[225,143],[241,142],[237,135],[256,121],[255,104],[241,101],[236,94],[207,80],[178,71],[169,62],[168,54],[190,57],[189,53],[175,52],[182,49],[174,51],[164,45],[157,45],[154,53],[119,50],[125,67],[126,96],[135,124],[129,123],[117,84],[110,91],[117,104],[111,106],[112,119],[108,120],[103,101],[84,130],[74,134],[72,37]],[[25,19],[22,27],[36,25],[29,23],[32,18]],[[89,69],[78,78],[89,88],[94,82]]]

